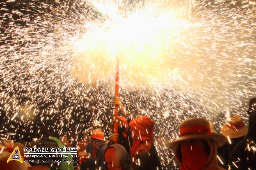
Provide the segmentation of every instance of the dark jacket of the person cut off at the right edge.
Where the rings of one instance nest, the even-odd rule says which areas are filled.
[[[256,155],[253,148],[256,144],[256,112],[249,116],[249,129],[246,137],[239,142],[231,153],[231,169],[256,169]],[[239,159],[238,159],[239,158]],[[238,167],[238,168],[237,168]]]

